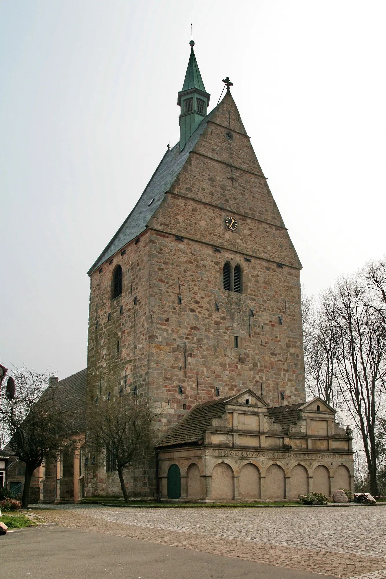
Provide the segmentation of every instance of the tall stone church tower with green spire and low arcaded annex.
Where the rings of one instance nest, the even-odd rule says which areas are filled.
[[[350,432],[305,400],[301,263],[232,83],[208,112],[190,44],[180,140],[88,272],[88,404],[136,395],[160,411],[132,496],[353,490]],[[107,457],[88,458],[85,495],[121,494]]]

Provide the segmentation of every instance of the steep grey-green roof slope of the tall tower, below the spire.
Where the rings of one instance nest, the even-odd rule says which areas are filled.
[[[192,149],[194,149],[196,142],[201,137],[203,131],[206,129],[206,123],[212,118],[215,107],[204,119],[190,136],[184,148],[179,151],[180,141],[173,146],[170,151],[166,151],[161,163],[155,170],[152,178],[148,182],[136,206],[133,208],[130,215],[122,223],[121,227],[115,233],[107,247],[104,248],[99,258],[90,267],[88,274],[92,273],[97,267],[101,266],[107,259],[111,258],[123,245],[132,241],[142,233],[147,226],[149,219],[154,215],[158,207],[163,201],[165,193],[173,185],[173,182],[178,177],[181,169],[186,163],[188,156]],[[154,201],[151,200],[154,199]],[[151,203],[151,205],[150,205]]]

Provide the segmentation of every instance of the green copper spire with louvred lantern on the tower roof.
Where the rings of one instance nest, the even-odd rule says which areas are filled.
[[[202,119],[207,115],[210,94],[206,92],[194,54],[194,41],[190,41],[191,51],[184,86],[179,92],[177,104],[180,114],[180,151]]]

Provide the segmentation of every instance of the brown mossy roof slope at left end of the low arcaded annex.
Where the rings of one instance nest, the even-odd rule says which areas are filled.
[[[198,442],[205,430],[212,426],[212,420],[223,415],[227,400],[228,398],[219,398],[194,406],[183,420],[158,443],[158,448]]]

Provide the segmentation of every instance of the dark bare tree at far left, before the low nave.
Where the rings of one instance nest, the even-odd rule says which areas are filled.
[[[49,387],[46,373],[15,369],[15,395],[6,396],[5,386],[0,393],[0,419],[9,439],[8,446],[26,464],[21,503],[28,507],[31,477],[47,456],[56,456],[70,444],[73,413],[57,400],[56,386]]]

